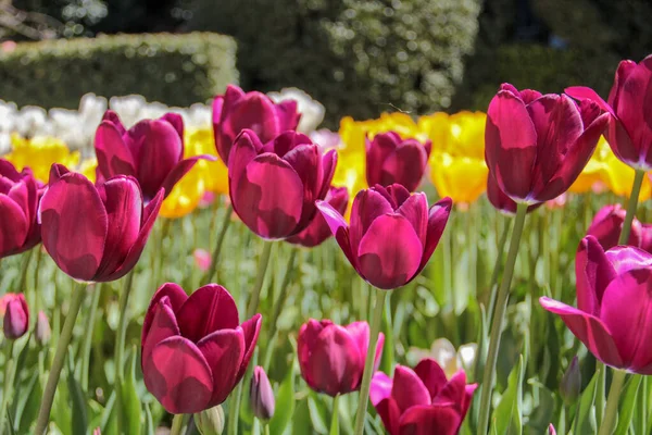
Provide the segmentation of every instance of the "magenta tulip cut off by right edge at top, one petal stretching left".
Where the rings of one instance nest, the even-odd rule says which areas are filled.
[[[618,159],[637,170],[652,170],[652,55],[638,64],[620,62],[607,101],[584,86],[569,87],[566,94],[598,103],[610,114],[605,137]]]

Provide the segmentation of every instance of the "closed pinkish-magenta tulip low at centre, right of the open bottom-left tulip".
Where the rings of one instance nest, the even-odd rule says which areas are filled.
[[[375,366],[380,362],[385,335],[378,334]],[[311,319],[299,330],[297,352],[305,383],[315,391],[335,397],[360,389],[369,346],[369,325],[353,322],[340,326]]]

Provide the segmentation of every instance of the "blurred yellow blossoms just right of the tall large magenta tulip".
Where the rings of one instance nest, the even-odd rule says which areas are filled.
[[[620,197],[629,197],[634,184],[634,170],[616,158],[604,137],[598,141],[595,152],[579,177],[568,189],[574,194],[599,191],[606,188]],[[641,187],[640,199],[650,198],[652,186],[645,178]]]

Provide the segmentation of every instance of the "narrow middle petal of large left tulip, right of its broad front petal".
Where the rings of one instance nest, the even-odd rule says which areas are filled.
[[[98,275],[110,274],[125,260],[138,239],[142,219],[142,194],[135,178],[118,176],[98,188],[109,217]]]

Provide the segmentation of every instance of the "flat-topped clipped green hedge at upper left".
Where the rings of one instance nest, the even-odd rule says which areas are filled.
[[[24,42],[0,54],[0,99],[73,109],[87,92],[139,94],[186,107],[237,83],[235,62],[235,40],[210,33]]]

